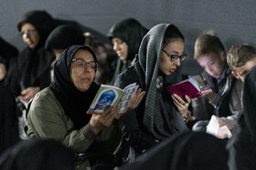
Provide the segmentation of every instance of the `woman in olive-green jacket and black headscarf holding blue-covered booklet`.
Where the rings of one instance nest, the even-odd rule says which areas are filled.
[[[70,46],[59,56],[54,81],[35,96],[27,115],[29,137],[55,139],[83,153],[79,169],[113,168],[112,152],[122,135],[119,108],[86,114],[100,86],[93,82],[97,65],[91,48]],[[129,108],[135,108],[143,96],[139,89]]]

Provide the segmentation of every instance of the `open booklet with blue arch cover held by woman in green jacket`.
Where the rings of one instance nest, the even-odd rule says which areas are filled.
[[[139,85],[136,83],[127,85],[123,89],[112,85],[101,85],[87,114],[101,114],[111,105],[119,107],[121,114],[125,113],[138,88]]]

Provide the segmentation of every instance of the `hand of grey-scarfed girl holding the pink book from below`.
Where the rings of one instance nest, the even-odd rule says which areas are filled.
[[[179,112],[179,114],[181,116],[185,116],[187,115],[187,112],[188,112],[188,105],[190,104],[191,100],[190,98],[186,95],[185,96],[185,99],[186,100],[183,100],[180,96],[178,95],[172,95],[172,98],[173,98],[173,101],[174,101],[174,104],[176,105],[176,108]]]

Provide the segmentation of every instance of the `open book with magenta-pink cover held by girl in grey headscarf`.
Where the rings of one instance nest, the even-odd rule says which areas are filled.
[[[197,98],[212,92],[209,85],[206,85],[202,75],[190,76],[188,79],[166,88],[171,94],[176,94],[182,98],[187,95],[189,98]]]

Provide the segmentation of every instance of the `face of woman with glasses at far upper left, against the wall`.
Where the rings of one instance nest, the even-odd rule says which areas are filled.
[[[36,28],[30,24],[24,24],[21,27],[21,35],[24,43],[27,44],[29,48],[35,48],[39,42],[39,34]]]

